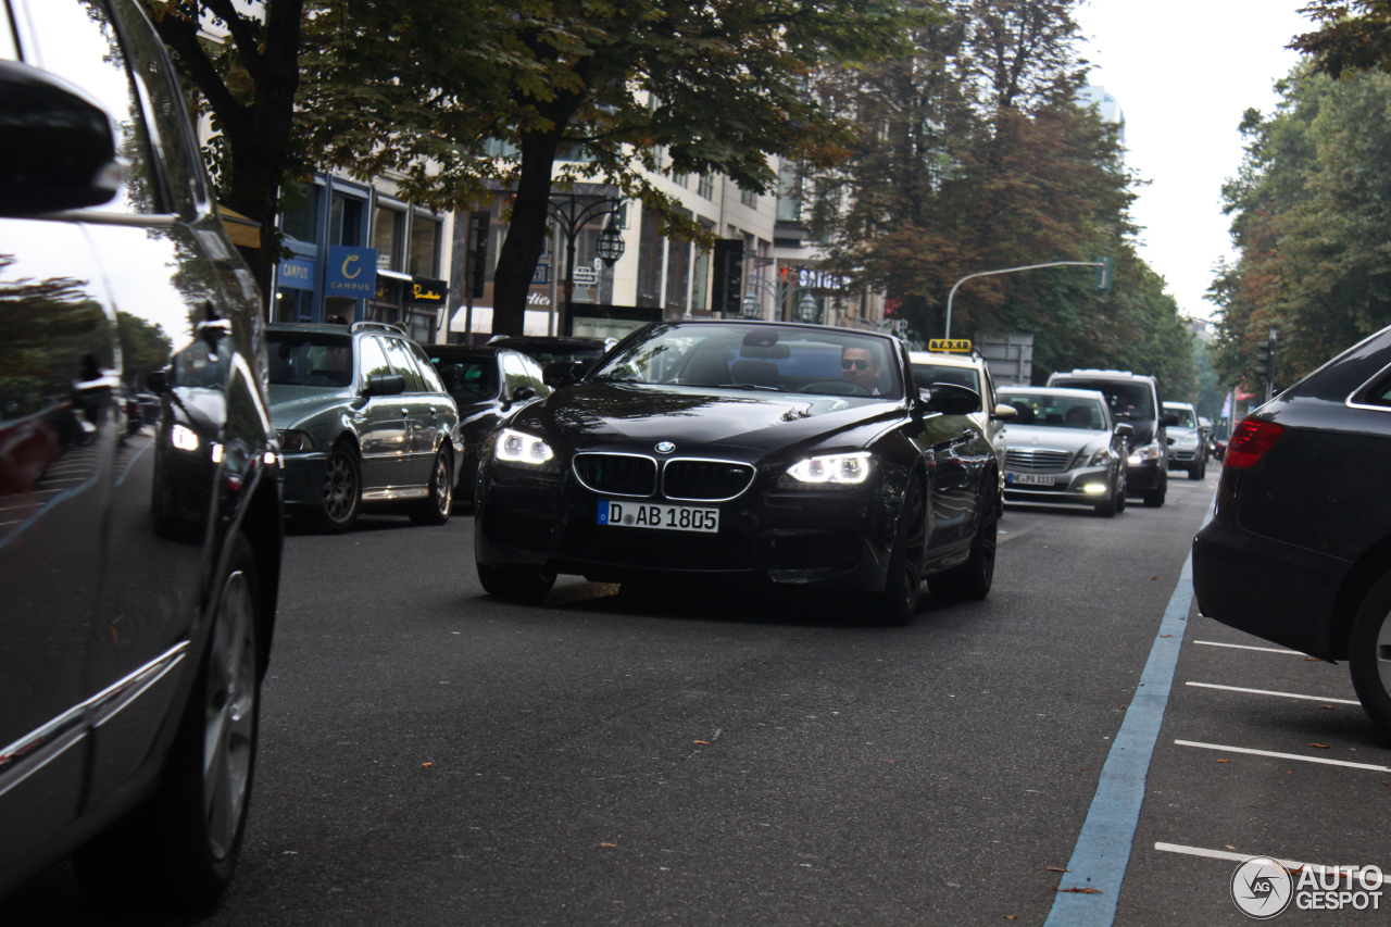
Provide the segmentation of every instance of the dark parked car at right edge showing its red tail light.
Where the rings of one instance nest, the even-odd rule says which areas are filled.
[[[1193,540],[1210,618],[1348,660],[1391,736],[1391,328],[1256,409],[1232,431],[1217,508]]]

